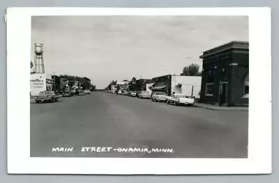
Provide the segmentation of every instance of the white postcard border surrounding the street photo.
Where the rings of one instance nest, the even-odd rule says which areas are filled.
[[[236,15],[249,16],[250,101],[247,159],[29,157],[31,16]],[[246,174],[271,173],[270,8],[8,8],[8,173]],[[20,88],[20,94],[18,90]]]

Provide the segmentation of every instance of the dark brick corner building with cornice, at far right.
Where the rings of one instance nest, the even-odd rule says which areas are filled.
[[[247,106],[249,44],[229,42],[204,51],[200,102],[220,106]]]

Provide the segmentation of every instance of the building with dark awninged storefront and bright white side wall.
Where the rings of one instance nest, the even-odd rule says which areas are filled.
[[[149,87],[152,93],[163,91],[167,95],[172,93],[181,93],[189,97],[199,98],[202,77],[181,76],[168,74],[152,79],[153,84]]]

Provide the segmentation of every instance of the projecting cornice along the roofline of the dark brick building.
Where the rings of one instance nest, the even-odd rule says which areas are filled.
[[[213,54],[218,54],[222,51],[227,51],[229,49],[243,49],[243,50],[249,50],[249,42],[245,41],[231,41],[227,42],[224,45],[220,45],[218,47],[214,47],[212,49],[206,50],[203,52],[202,56],[199,56],[199,58],[204,58],[206,56],[210,56]]]

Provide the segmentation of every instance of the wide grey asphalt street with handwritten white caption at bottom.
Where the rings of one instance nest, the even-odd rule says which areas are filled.
[[[244,158],[248,111],[173,106],[93,92],[31,100],[31,157]]]

